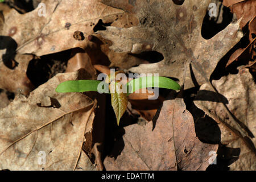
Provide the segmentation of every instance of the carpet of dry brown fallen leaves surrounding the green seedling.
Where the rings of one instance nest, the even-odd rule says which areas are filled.
[[[218,149],[217,161],[221,160],[223,144],[240,148],[238,159],[228,165],[231,170],[255,169],[255,77],[251,76],[255,14],[249,6],[253,1],[223,1],[239,20],[207,40],[201,36],[201,27],[210,1],[184,1],[182,5],[157,0],[42,2],[47,5],[45,17],[38,16],[38,9],[26,12],[0,3],[1,169],[205,170],[210,167],[210,151]],[[242,33],[246,24],[248,32]],[[237,46],[243,39],[249,41]],[[34,84],[31,75],[26,75],[31,61],[39,58],[46,62],[40,57],[63,51],[71,52],[67,67],[52,69],[46,78],[52,77],[50,80]],[[236,52],[233,57],[232,52]],[[226,75],[210,79],[226,55],[231,56],[221,68]],[[250,58],[234,75],[244,55]],[[104,130],[109,129],[109,122],[115,123],[115,117],[106,113],[108,97],[55,92],[60,82],[96,80],[98,73],[108,74],[109,68],[159,73],[181,83],[188,66],[184,93],[200,86],[192,102],[218,123],[219,143],[197,136],[197,120],[182,92],[161,93],[155,102],[144,101],[147,94],[130,94],[122,118],[128,122],[110,129],[122,133],[115,136],[110,148],[106,146],[109,131],[105,134]],[[237,82],[238,78],[241,81]],[[15,94],[14,100],[8,92]],[[211,97],[209,93],[216,93],[218,102],[202,100]],[[228,102],[221,101],[223,98]],[[146,121],[129,120],[134,117]],[[46,164],[38,165],[40,151],[46,152]]]

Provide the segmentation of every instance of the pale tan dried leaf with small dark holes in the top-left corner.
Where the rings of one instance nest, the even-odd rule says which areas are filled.
[[[19,14],[14,9],[4,14],[5,24],[1,35],[9,35],[11,28],[16,27],[16,32],[11,37],[18,44],[19,53],[42,56],[80,47],[80,41],[73,38],[75,31],[86,35],[93,32],[99,19],[111,22],[115,15],[123,13],[122,10],[93,0],[44,0],[42,3],[46,4],[46,16],[38,15],[40,7],[26,14]],[[68,28],[67,23],[71,24]]]

